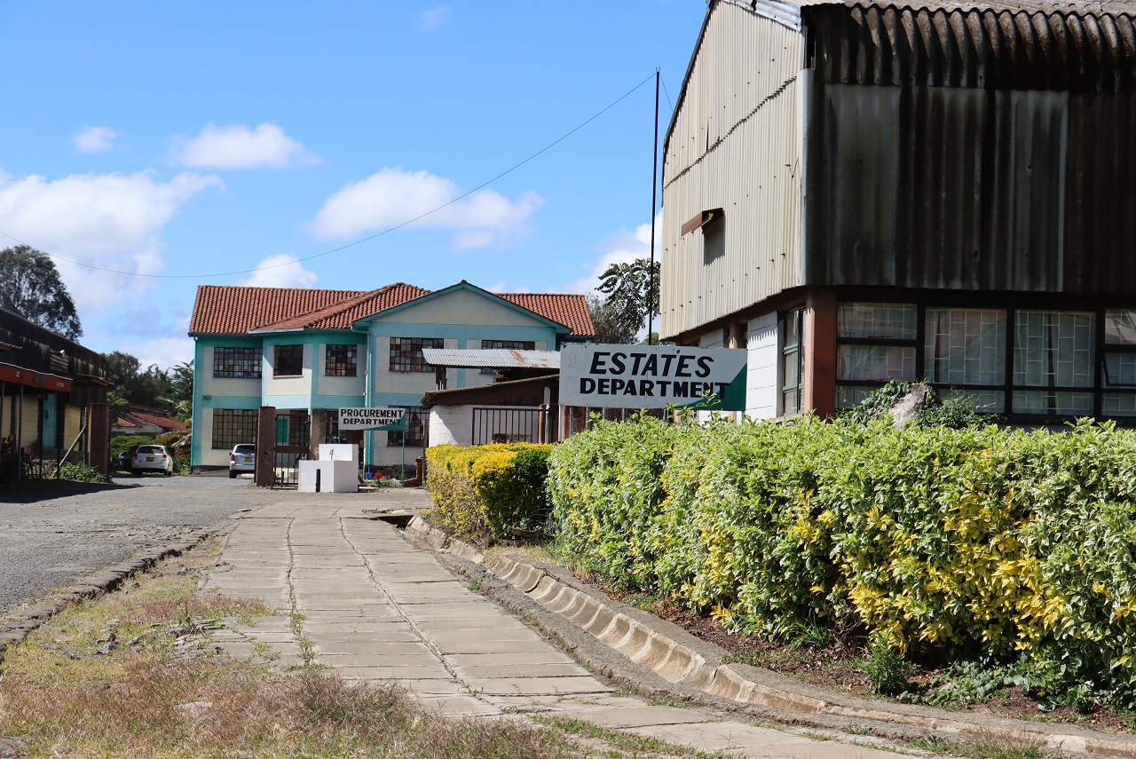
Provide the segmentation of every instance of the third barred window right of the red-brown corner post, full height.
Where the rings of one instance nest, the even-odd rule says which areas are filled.
[[[1088,312],[1014,312],[1016,414],[1093,412],[1095,328],[1094,315]]]

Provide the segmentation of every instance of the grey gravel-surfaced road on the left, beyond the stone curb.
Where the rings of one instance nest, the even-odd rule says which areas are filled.
[[[65,483],[47,493],[0,492],[0,616],[53,587],[222,524],[292,492],[222,476],[116,477],[112,485]]]

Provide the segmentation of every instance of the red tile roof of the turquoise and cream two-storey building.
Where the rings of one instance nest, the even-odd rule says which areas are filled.
[[[346,330],[356,319],[384,311],[429,290],[398,282],[378,290],[304,290],[200,285],[190,334],[244,334],[258,330]],[[500,298],[569,327],[595,334],[584,295],[498,293]]]

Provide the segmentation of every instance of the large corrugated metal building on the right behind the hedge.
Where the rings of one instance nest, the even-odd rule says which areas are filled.
[[[1136,422],[1136,3],[712,0],[665,143],[660,334],[747,414],[897,380]]]

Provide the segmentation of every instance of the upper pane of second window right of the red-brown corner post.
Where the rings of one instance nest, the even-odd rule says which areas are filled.
[[[1005,311],[928,308],[924,374],[947,385],[1005,384]]]

